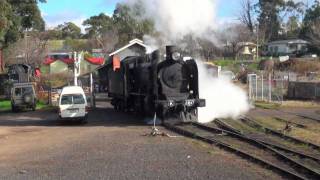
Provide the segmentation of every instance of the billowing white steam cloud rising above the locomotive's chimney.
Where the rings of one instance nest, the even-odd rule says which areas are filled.
[[[155,28],[175,42],[183,36],[208,36],[215,29],[216,0],[126,0],[128,5],[136,3],[145,7],[143,18],[153,19]]]

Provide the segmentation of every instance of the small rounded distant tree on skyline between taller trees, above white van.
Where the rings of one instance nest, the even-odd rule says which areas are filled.
[[[71,38],[71,39],[79,39],[81,37],[81,29],[77,25],[72,22],[67,22],[64,24],[58,25],[55,28],[56,31],[61,31],[62,38]]]

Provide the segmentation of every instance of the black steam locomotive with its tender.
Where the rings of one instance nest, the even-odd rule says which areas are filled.
[[[113,62],[114,63],[114,62]],[[178,48],[166,47],[166,58],[160,52],[127,57],[120,68],[107,68],[108,94],[116,110],[157,116],[163,122],[198,120],[198,67],[195,60],[183,60]]]

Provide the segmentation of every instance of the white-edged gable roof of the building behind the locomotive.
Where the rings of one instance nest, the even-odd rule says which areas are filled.
[[[120,61],[128,56],[142,56],[147,52],[147,45],[143,44],[143,41],[139,39],[134,39],[129,42],[126,46],[116,50],[115,52],[109,54],[111,60],[114,56],[119,57]]]

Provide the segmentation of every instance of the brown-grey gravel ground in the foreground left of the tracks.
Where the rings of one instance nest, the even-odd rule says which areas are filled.
[[[0,114],[0,179],[282,179],[198,141],[145,136],[141,118],[108,107],[85,126],[54,111]]]

